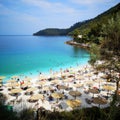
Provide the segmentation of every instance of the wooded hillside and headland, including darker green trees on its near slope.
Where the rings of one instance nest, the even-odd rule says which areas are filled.
[[[120,13],[120,3],[109,9],[108,11],[98,15],[94,19],[85,20],[78,22],[67,29],[48,28],[40,30],[33,35],[44,35],[44,36],[59,36],[59,35],[71,35],[74,36],[74,32],[77,29],[79,34],[83,35],[83,38],[88,41],[99,42],[100,31],[102,24],[106,24],[108,19],[116,16],[116,13]],[[96,37],[97,36],[97,37]],[[89,37],[89,39],[88,39]]]

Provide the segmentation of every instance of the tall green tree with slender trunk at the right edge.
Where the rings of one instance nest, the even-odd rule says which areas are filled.
[[[113,70],[115,73],[120,72],[120,13],[115,18],[111,18],[108,23],[102,27],[102,36],[104,40],[101,42],[102,59],[108,63],[109,71]],[[111,74],[112,79],[116,82],[116,92],[114,102],[118,99],[117,91],[120,81],[120,75]]]

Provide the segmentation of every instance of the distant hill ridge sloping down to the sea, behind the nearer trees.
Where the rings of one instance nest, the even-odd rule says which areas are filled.
[[[114,18],[116,14],[120,14],[120,3],[116,6],[110,8],[104,13],[98,15],[97,17],[85,20],[82,22],[75,23],[73,26],[67,29],[58,29],[58,28],[48,28],[40,30],[33,35],[43,35],[43,36],[58,36],[58,35],[72,35],[75,29],[81,31],[81,34],[87,34],[91,29],[94,29],[102,24],[106,24],[109,19]]]

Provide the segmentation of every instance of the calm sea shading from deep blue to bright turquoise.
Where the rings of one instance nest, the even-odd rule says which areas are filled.
[[[86,64],[89,53],[66,45],[72,38],[41,36],[0,36],[0,75],[48,73]]]

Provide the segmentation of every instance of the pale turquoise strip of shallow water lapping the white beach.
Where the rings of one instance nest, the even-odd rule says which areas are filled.
[[[89,58],[88,58],[89,60]],[[31,77],[32,79],[35,79],[36,77],[38,77],[40,75],[40,73],[42,73],[45,76],[50,76],[50,71],[52,70],[53,73],[59,73],[61,70],[66,70],[69,68],[77,68],[78,66],[80,67],[84,67],[86,65],[88,65],[88,60],[86,60],[86,62],[82,61],[82,62],[74,62],[73,64],[68,64],[68,65],[64,65],[61,67],[55,67],[55,68],[50,68],[48,70],[32,70],[32,71],[27,71],[27,72],[22,72],[22,73],[16,73],[16,74],[1,74],[0,76],[5,76],[6,78],[3,80],[3,83],[6,83],[9,79],[11,79],[12,76],[18,76],[21,79],[25,78],[25,77]]]

